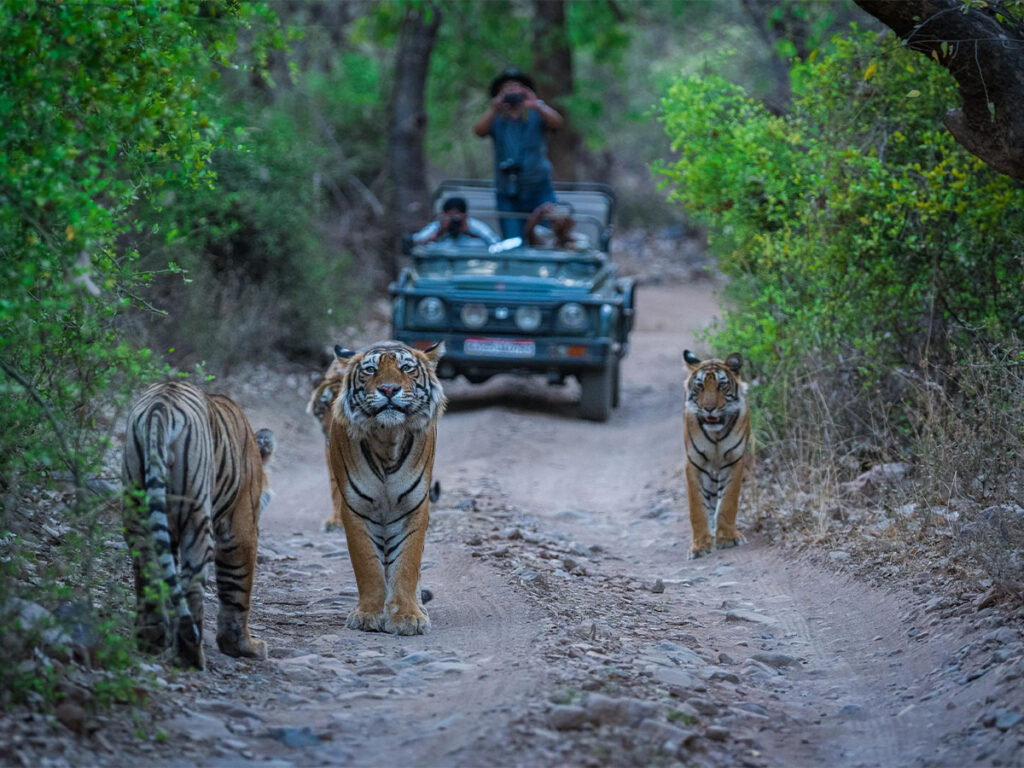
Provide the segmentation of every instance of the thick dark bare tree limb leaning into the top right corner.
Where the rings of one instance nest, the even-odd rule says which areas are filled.
[[[953,137],[996,171],[1024,179],[1024,24],[997,0],[970,8],[962,0],[855,2],[956,79],[962,105],[944,120]]]

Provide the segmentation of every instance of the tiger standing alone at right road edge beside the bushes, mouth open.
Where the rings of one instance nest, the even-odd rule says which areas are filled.
[[[700,360],[683,351],[688,369],[683,439],[686,493],[693,541],[690,558],[746,541],[736,528],[739,484],[751,438],[746,384],[739,377],[743,358]]]

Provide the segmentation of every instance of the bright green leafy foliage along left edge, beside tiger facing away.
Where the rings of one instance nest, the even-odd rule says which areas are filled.
[[[105,472],[118,408],[158,365],[124,341],[122,316],[151,275],[123,239],[155,193],[212,181],[221,123],[204,94],[254,25],[248,53],[265,65],[281,40],[272,20],[226,1],[0,9],[0,606],[16,593],[48,608],[115,599],[95,570],[111,520],[87,479]],[[37,512],[59,546],[35,536]],[[97,660],[123,668],[127,640],[97,626],[109,633]],[[6,690],[51,698],[33,676],[47,685],[37,666],[0,673]],[[112,678],[111,695],[125,685]]]

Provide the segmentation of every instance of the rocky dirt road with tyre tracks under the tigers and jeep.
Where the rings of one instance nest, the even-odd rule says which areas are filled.
[[[1019,637],[989,643],[1011,628],[984,611],[924,584],[870,589],[757,537],[686,560],[680,355],[707,351],[695,333],[715,311],[707,284],[641,290],[606,424],[577,418],[571,384],[447,387],[424,637],[345,629],[355,586],[344,536],[321,529],[330,497],[307,384],[242,388],[280,446],[252,620],[270,658],[208,648],[208,673],[178,675],[155,699],[150,737],[115,750],[109,730],[110,751],[83,754],[224,766],[1019,761],[1024,729],[1000,709],[1020,689]],[[741,527],[751,519],[741,512]]]

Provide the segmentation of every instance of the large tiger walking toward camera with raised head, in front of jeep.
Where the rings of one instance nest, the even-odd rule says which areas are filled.
[[[437,422],[445,407],[436,374],[444,343],[420,351],[382,341],[358,351],[336,346],[335,354],[343,373],[331,406],[334,515],[328,524],[345,530],[358,592],[345,624],[366,632],[426,634],[420,562]]]

